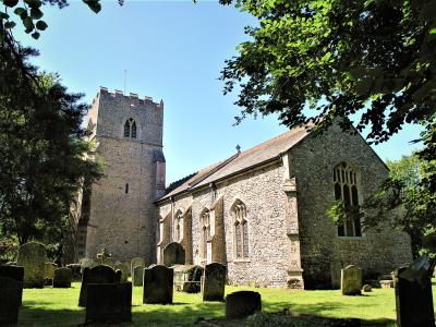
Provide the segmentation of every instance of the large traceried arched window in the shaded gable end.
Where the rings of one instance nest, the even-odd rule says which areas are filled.
[[[347,162],[341,162],[334,169],[334,183],[335,198],[342,199],[351,213],[350,218],[338,226],[338,237],[362,237],[356,172]]]

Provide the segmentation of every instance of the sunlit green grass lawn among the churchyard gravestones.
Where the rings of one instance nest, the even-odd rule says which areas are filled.
[[[77,306],[81,284],[71,289],[25,289],[20,326],[77,326],[85,322],[85,310]],[[335,291],[289,291],[226,287],[226,293],[240,290],[261,292],[263,311],[276,312],[289,307],[292,313],[336,318],[361,318],[365,325],[395,326],[393,289],[374,289],[362,296],[343,296]],[[434,298],[436,287],[433,288]],[[142,288],[133,290],[133,324],[147,326],[189,326],[198,317],[225,315],[225,304],[201,301],[199,294],[174,292],[174,304],[142,304]],[[435,305],[436,308],[436,305]]]

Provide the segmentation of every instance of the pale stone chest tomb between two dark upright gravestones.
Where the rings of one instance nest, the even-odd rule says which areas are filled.
[[[175,265],[174,288],[179,292],[198,293],[204,268],[194,265]]]

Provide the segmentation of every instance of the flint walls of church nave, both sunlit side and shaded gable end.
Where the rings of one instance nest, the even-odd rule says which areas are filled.
[[[175,195],[172,208],[169,201],[159,203],[159,216],[171,221],[171,213],[192,208],[193,262],[205,265],[211,261],[202,257],[199,215],[222,197],[225,262],[228,281],[233,284],[289,287],[292,271],[303,275],[305,288],[339,288],[340,269],[348,265],[362,267],[366,278],[409,264],[409,237],[391,227],[382,226],[382,232],[366,231],[362,238],[338,238],[337,227],[325,211],[335,202],[332,169],[342,161],[356,169],[361,203],[388,175],[386,166],[360,135],[334,125],[322,137],[307,136],[281,160],[217,182],[214,191],[205,186]],[[287,213],[289,199],[284,192],[291,179],[296,187],[292,198],[292,218],[298,221],[294,230],[287,217],[292,213]],[[230,208],[235,199],[242,201],[247,210],[249,259],[234,257]]]

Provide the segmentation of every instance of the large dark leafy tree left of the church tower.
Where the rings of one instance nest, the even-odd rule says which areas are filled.
[[[76,192],[100,177],[101,165],[87,160],[82,95],[40,74],[28,63],[34,55],[8,37],[0,44],[0,234],[61,251]]]

